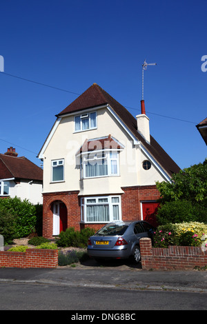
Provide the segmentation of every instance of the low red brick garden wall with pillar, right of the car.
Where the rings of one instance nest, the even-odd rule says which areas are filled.
[[[193,270],[207,266],[207,251],[201,247],[152,247],[151,239],[140,239],[141,266],[143,270]]]

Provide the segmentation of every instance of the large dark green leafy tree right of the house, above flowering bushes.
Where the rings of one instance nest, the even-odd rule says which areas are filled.
[[[161,194],[159,225],[199,221],[207,223],[207,161],[180,170],[171,182],[157,182]]]

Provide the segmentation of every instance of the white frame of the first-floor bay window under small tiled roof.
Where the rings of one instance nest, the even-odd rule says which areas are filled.
[[[112,156],[113,153],[116,153],[116,156]],[[97,156],[98,155],[98,156]],[[102,155],[99,157],[99,155]],[[86,165],[88,161],[91,163],[98,163],[98,161],[106,159],[107,161],[107,174],[97,175],[97,176],[86,176]],[[112,161],[116,161],[117,173],[113,172]],[[81,154],[81,179],[91,179],[91,178],[102,178],[104,176],[119,176],[119,151],[118,150],[95,150],[92,152],[84,152]]]

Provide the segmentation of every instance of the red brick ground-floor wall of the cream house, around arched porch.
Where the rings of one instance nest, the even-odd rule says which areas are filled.
[[[124,194],[121,195],[121,213],[123,221],[141,219],[141,201],[156,201],[159,199],[159,191],[156,185],[144,185],[121,188]],[[92,227],[99,230],[105,224],[81,223],[81,203],[78,196],[79,191],[72,192],[50,192],[43,194],[43,236],[52,238],[54,201],[62,201],[67,208],[68,227],[75,227],[81,230],[85,227]]]

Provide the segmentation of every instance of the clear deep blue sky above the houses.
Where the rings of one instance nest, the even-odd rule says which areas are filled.
[[[180,168],[203,162],[195,125],[207,117],[206,8],[206,0],[0,0],[0,152],[13,146],[39,165],[55,114],[92,83],[136,116],[146,59],[157,63],[144,72],[152,136]]]

